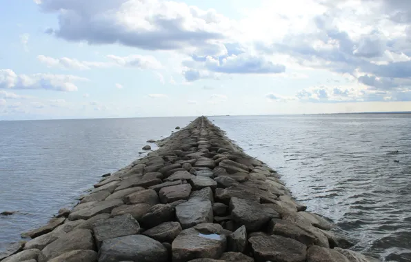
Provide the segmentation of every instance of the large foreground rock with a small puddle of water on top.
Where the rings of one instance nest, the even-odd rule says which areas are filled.
[[[219,234],[201,234],[194,228],[183,230],[172,241],[172,261],[185,262],[192,259],[218,259],[223,254],[226,238]]]

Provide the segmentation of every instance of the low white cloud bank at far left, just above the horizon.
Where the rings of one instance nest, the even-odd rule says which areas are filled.
[[[46,89],[77,91],[73,82],[88,81],[70,74],[16,74],[10,69],[0,69],[0,89]]]

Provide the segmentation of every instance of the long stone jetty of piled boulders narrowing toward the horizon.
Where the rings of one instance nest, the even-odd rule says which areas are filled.
[[[374,262],[206,117],[23,233],[1,262]]]

